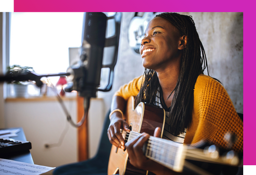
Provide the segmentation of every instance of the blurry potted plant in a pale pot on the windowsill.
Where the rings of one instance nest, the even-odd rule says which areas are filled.
[[[34,71],[32,67],[28,67],[28,66],[22,67],[20,65],[13,65],[13,66],[7,67],[6,75],[15,77],[21,74],[29,73],[31,71]],[[13,85],[14,93],[15,93],[14,95],[16,97],[27,96],[28,84],[21,81],[9,81],[8,83]]]

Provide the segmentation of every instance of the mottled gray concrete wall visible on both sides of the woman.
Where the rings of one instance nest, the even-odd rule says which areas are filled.
[[[191,15],[206,51],[209,75],[220,80],[236,111],[243,113],[243,13],[181,13]],[[128,44],[128,26],[134,13],[123,13],[119,56],[113,89],[98,93],[110,108],[113,93],[144,72],[142,59]],[[207,74],[207,72],[205,72]]]

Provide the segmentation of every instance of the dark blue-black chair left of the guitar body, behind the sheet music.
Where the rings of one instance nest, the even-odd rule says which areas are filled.
[[[105,116],[102,136],[96,155],[86,161],[57,167],[53,171],[53,175],[108,175],[108,158],[112,146],[107,135],[110,124],[109,114],[110,111]]]

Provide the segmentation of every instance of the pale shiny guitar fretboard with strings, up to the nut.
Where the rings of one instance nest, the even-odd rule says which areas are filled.
[[[140,133],[131,131],[128,141],[136,138]],[[150,136],[143,146],[143,152],[147,158],[162,164],[169,169],[181,172],[183,169],[185,155],[183,154],[183,144],[169,141],[162,138]]]

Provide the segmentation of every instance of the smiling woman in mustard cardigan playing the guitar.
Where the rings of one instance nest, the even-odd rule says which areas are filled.
[[[136,104],[156,104],[167,111],[163,138],[181,144],[195,144],[205,139],[226,148],[229,145],[223,138],[230,132],[238,138],[233,150],[243,151],[243,123],[233,103],[218,81],[203,75],[208,67],[207,59],[192,17],[176,13],[157,15],[148,23],[140,54],[144,76],[135,78],[115,93],[108,128],[111,144],[126,147],[131,164],[157,175],[175,174],[142,154],[148,134],[124,143],[120,129],[129,131],[122,119],[129,96],[136,96]],[[157,128],[154,136],[159,137],[160,132]]]

